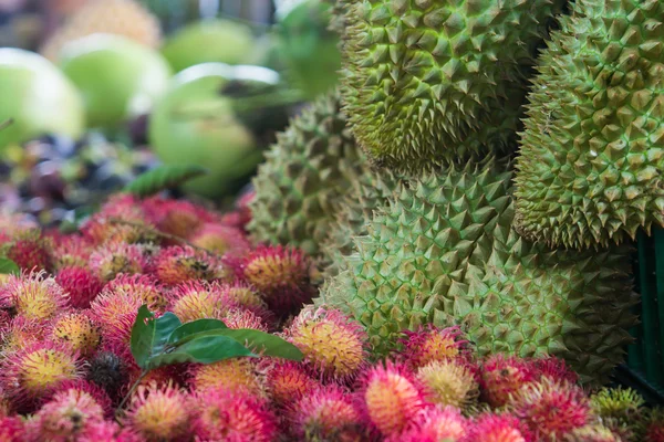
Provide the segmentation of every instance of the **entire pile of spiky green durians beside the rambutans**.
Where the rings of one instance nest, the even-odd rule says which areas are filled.
[[[376,357],[457,324],[485,354],[606,380],[636,323],[630,239],[664,224],[664,2],[335,10],[342,87],[261,167],[253,238],[318,254],[317,302]]]

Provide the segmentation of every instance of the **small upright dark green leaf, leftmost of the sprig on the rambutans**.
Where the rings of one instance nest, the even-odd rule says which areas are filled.
[[[164,351],[170,334],[181,325],[173,313],[155,319],[155,315],[142,305],[132,327],[132,355],[138,367],[146,369],[151,360]]]

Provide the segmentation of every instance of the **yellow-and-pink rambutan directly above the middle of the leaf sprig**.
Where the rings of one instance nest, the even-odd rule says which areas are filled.
[[[227,313],[221,287],[217,283],[189,281],[175,286],[170,293],[170,311],[183,322],[215,318]]]

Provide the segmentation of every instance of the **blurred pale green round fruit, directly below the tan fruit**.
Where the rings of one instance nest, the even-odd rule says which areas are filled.
[[[113,127],[149,112],[170,78],[157,52],[111,34],[65,44],[60,66],[83,94],[90,127]]]

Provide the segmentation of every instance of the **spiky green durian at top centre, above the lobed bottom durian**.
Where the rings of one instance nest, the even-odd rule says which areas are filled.
[[[566,2],[341,0],[343,98],[360,146],[409,170],[509,151],[537,49]],[[467,143],[487,127],[492,143]]]

